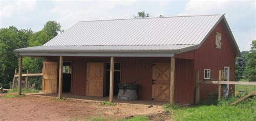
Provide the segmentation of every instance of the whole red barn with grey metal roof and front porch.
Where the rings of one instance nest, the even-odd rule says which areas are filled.
[[[234,81],[239,48],[224,15],[79,22],[43,46],[15,49],[42,56],[43,92],[104,97],[119,83],[139,85],[140,100],[192,104],[199,80]],[[22,70],[22,67],[19,68]],[[217,90],[200,84],[200,99]],[[234,86],[224,88],[231,94]],[[62,93],[59,93],[61,96]]]

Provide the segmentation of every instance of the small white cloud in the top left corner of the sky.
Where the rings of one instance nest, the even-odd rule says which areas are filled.
[[[1,4],[4,4],[2,1]],[[0,17],[11,17],[15,12],[32,11],[36,6],[36,1],[14,1],[5,6],[1,6]]]

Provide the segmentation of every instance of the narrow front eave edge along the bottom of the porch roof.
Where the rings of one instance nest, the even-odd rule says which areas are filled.
[[[17,51],[18,56],[144,56],[144,57],[171,57],[176,53],[175,50],[145,50],[145,51]]]

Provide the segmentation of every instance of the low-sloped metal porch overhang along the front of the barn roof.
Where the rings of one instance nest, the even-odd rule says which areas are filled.
[[[158,46],[37,46],[15,49],[18,56],[140,56],[173,57],[198,45]]]

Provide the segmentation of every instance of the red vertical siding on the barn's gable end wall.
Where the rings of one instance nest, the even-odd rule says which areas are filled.
[[[215,32],[222,35],[223,45],[221,49],[215,48]],[[218,71],[224,67],[230,67],[230,81],[235,77],[235,53],[231,47],[230,41],[221,24],[218,24],[212,33],[208,36],[204,44],[194,50],[194,74],[199,70],[199,79],[204,80],[204,69],[211,69],[211,80],[218,80]],[[217,91],[216,84],[201,84],[200,98],[206,99],[210,92]],[[234,90],[234,86],[230,86]]]

